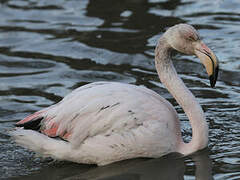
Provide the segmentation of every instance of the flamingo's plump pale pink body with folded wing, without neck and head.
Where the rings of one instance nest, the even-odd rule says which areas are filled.
[[[78,163],[104,165],[126,158],[160,157],[176,152],[181,138],[177,113],[168,101],[145,87],[116,82],[77,88],[58,104],[18,122],[18,126],[37,119],[41,120],[42,134],[20,129],[15,133],[22,136],[16,141],[22,144],[28,142],[23,136],[32,137],[36,145],[24,146]]]

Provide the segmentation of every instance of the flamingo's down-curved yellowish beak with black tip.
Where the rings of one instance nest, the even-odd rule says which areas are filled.
[[[209,76],[211,87],[216,84],[218,77],[218,58],[202,41],[199,41],[195,46],[195,55],[200,59],[201,63],[205,66]]]

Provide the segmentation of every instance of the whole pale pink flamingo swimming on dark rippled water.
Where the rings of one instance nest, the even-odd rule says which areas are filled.
[[[17,122],[13,139],[44,157],[99,166],[172,152],[187,156],[205,148],[208,124],[200,104],[176,73],[173,50],[196,55],[211,87],[217,80],[218,59],[188,24],[170,27],[157,43],[156,69],[189,119],[190,142],[183,141],[177,112],[167,100],[143,86],[118,82],[95,82],[75,89],[59,103]]]

